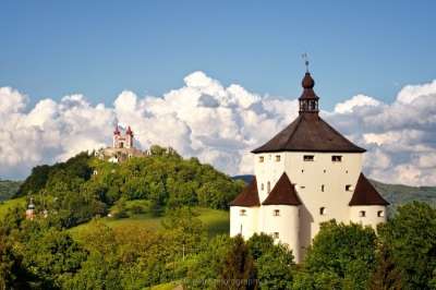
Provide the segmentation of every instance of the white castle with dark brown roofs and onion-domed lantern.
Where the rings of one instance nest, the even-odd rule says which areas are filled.
[[[388,206],[362,173],[365,149],[318,116],[314,85],[306,72],[299,117],[252,152],[255,177],[230,206],[230,235],[271,234],[292,250],[296,263],[320,222],[375,228],[386,221]]]

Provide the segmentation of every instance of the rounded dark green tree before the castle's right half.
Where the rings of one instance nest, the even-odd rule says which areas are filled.
[[[376,234],[371,227],[331,220],[322,223],[307,251],[305,269],[318,280],[336,283],[339,278],[344,289],[366,289],[375,267],[375,247]]]

